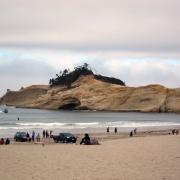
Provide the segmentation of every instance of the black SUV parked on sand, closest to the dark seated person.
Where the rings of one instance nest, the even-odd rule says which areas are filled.
[[[58,136],[53,136],[54,142],[76,143],[77,138],[71,133],[59,133]]]

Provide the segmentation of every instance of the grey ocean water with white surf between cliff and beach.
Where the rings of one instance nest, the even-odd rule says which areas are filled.
[[[0,107],[0,137],[13,137],[17,131],[31,133],[43,129],[59,132],[92,133],[164,130],[180,127],[180,114],[175,113],[125,113],[91,111],[53,111],[6,107],[3,113]],[[18,120],[19,118],[19,120]]]

